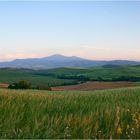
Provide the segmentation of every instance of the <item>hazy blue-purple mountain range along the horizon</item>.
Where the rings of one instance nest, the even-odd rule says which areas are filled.
[[[29,68],[29,69],[50,69],[59,67],[95,67],[104,65],[140,65],[137,61],[112,60],[98,61],[88,60],[76,56],[63,56],[59,54],[44,58],[16,59],[10,62],[0,62],[0,68]]]

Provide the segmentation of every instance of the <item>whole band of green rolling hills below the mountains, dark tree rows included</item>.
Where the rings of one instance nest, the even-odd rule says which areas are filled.
[[[0,83],[27,80],[32,85],[71,85],[86,81],[140,82],[140,66],[104,66],[88,69],[57,68],[48,70],[0,69]]]

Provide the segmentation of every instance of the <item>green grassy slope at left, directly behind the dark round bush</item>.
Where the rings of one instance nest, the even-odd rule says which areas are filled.
[[[57,79],[52,76],[44,76],[36,74],[33,70],[18,70],[18,69],[0,69],[0,83],[13,83],[20,80],[27,80],[33,85],[55,86],[64,83],[72,83],[71,80]]]

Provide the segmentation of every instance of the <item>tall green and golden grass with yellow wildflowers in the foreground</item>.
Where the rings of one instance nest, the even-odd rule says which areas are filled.
[[[0,89],[0,138],[140,138],[140,88]]]

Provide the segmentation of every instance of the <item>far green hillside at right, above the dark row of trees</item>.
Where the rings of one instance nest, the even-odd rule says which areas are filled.
[[[120,76],[140,77],[140,66],[95,67],[90,69],[58,68],[44,70],[46,74],[54,75],[84,75],[92,78],[116,78]]]

